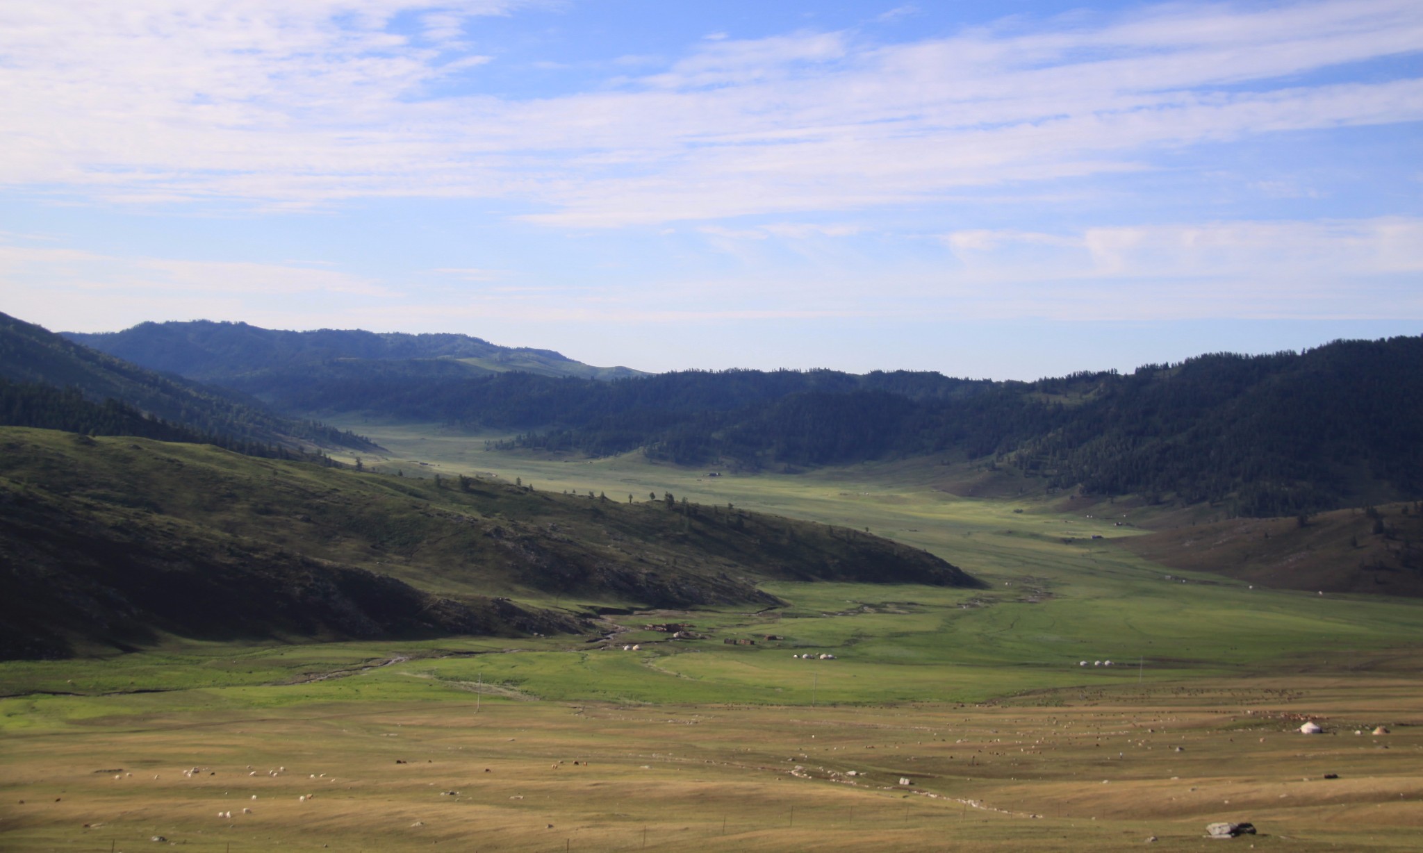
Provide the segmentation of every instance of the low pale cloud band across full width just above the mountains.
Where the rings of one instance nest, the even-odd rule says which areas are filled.
[[[942,235],[939,252],[892,264],[857,254],[861,240],[821,240],[811,232],[807,243],[794,229],[787,237],[773,227],[699,230],[727,259],[717,273],[669,269],[598,283],[586,270],[551,279],[425,270],[448,277],[451,284],[440,287],[387,284],[310,263],[0,245],[0,301],[7,313],[74,330],[225,317],[300,328],[458,327],[481,336],[491,323],[524,324],[534,334],[544,323],[1423,320],[1419,218],[969,229]],[[791,253],[803,245],[824,252],[807,252],[801,260],[810,263],[784,263],[777,240]],[[736,262],[741,266],[730,266]],[[499,284],[490,286],[494,280]]]

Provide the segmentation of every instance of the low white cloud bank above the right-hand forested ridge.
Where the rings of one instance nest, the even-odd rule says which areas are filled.
[[[968,230],[943,242],[959,266],[942,280],[993,317],[1423,318],[1423,219]]]

